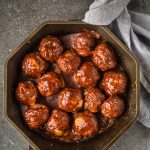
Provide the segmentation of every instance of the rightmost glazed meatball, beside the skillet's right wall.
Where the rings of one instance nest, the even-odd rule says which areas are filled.
[[[124,94],[126,92],[127,77],[122,71],[106,72],[101,86],[108,95]]]

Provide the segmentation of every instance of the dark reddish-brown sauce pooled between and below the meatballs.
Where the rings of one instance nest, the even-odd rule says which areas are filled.
[[[74,34],[74,35],[76,36],[77,34]],[[72,42],[70,40],[71,36],[72,36],[71,34],[60,36],[60,39],[61,39],[61,41],[64,44],[64,47],[66,49],[73,48]],[[82,58],[82,62],[90,61],[90,60],[91,60],[91,57]],[[64,79],[65,87],[78,88],[78,85],[76,85],[75,82],[73,81],[73,74],[61,73],[60,69],[56,66],[55,63],[52,64],[52,63],[49,62],[49,67],[48,67],[46,72],[48,72],[48,71],[55,71],[58,74],[60,74]],[[35,84],[37,84],[37,79],[36,78],[26,77],[22,73],[20,75],[20,81],[25,81],[25,80],[31,80]],[[54,108],[57,109],[58,108],[58,95],[56,94],[54,96],[43,97],[39,93],[39,96],[38,96],[38,99],[37,99],[36,103],[46,104],[50,108],[50,111],[52,111],[52,109],[54,109]],[[20,105],[20,106],[21,106],[22,114],[24,114],[24,111],[27,108],[27,106],[25,106],[25,105]],[[102,133],[102,132],[106,131],[109,127],[111,127],[113,125],[114,120],[112,120],[112,119],[111,120],[106,120],[99,113],[96,113],[96,116],[97,116],[99,124],[100,124],[99,125],[99,130],[96,134],[99,134],[99,133]],[[96,134],[94,134],[91,137],[83,138],[83,137],[75,135],[72,132],[72,130],[70,129],[69,134],[67,136],[65,136],[64,138],[62,138],[62,137],[61,138],[60,137],[53,137],[52,135],[50,135],[50,133],[48,133],[46,131],[45,125],[41,126],[39,129],[34,129],[34,131],[41,134],[45,138],[48,138],[48,139],[54,138],[54,139],[57,139],[57,140],[60,140],[60,141],[65,141],[65,142],[74,142],[74,141],[81,142],[83,140],[87,140],[87,139],[89,139],[89,138],[96,135]]]

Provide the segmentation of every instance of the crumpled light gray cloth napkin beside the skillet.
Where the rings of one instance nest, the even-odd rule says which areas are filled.
[[[150,15],[127,10],[130,0],[95,0],[84,22],[109,25],[110,30],[133,51],[140,61],[139,122],[150,128]]]

